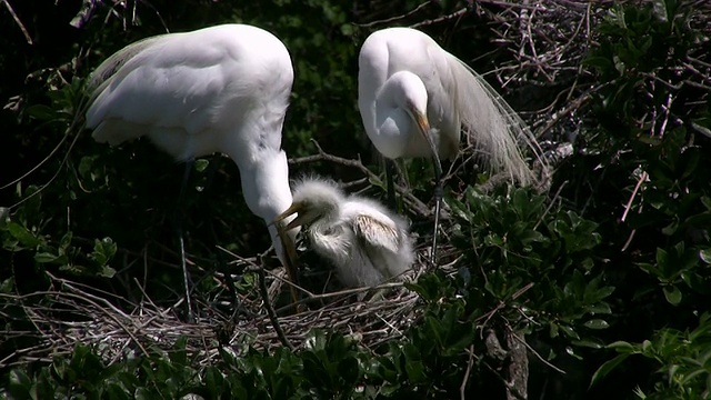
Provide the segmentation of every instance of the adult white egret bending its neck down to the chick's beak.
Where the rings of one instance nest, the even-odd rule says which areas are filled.
[[[271,222],[291,204],[281,129],[293,82],[287,48],[273,34],[223,24],[148,38],[119,50],[91,76],[87,127],[112,146],[142,136],[180,161],[222,152],[240,170],[249,209]],[[186,182],[183,181],[183,187]],[[181,190],[182,192],[182,190]],[[272,243],[290,274],[290,231]],[[190,308],[184,246],[183,281]],[[293,278],[293,277],[291,277]]]

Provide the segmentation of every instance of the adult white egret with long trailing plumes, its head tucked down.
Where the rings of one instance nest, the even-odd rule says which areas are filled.
[[[481,76],[418,30],[389,28],[365,39],[359,57],[358,107],[365,133],[382,156],[432,158],[433,261],[442,199],[440,160],[457,157],[462,130],[492,168],[521,184],[535,181],[518,146],[523,140],[535,149],[525,123]],[[388,181],[390,187],[390,174]]]

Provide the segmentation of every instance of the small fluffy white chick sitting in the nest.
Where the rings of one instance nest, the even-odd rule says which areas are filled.
[[[313,250],[331,261],[347,287],[378,286],[414,262],[405,221],[373,200],[346,196],[333,181],[294,183],[293,203],[276,221],[293,214],[287,229],[304,226]]]

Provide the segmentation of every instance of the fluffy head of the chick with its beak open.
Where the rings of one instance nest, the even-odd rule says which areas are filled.
[[[287,230],[308,226],[317,220],[329,220],[338,216],[339,204],[346,197],[333,181],[318,178],[304,178],[293,186],[293,202],[284,212],[277,216],[279,222],[290,216],[298,214],[287,224]]]

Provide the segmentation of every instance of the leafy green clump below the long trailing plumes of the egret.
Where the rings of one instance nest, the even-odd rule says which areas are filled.
[[[469,188],[449,203],[458,221],[452,242],[464,251],[457,282],[472,322],[507,304],[498,316],[517,331],[601,347],[595,331],[609,326],[614,287],[595,267],[594,222],[524,189],[489,197]]]

